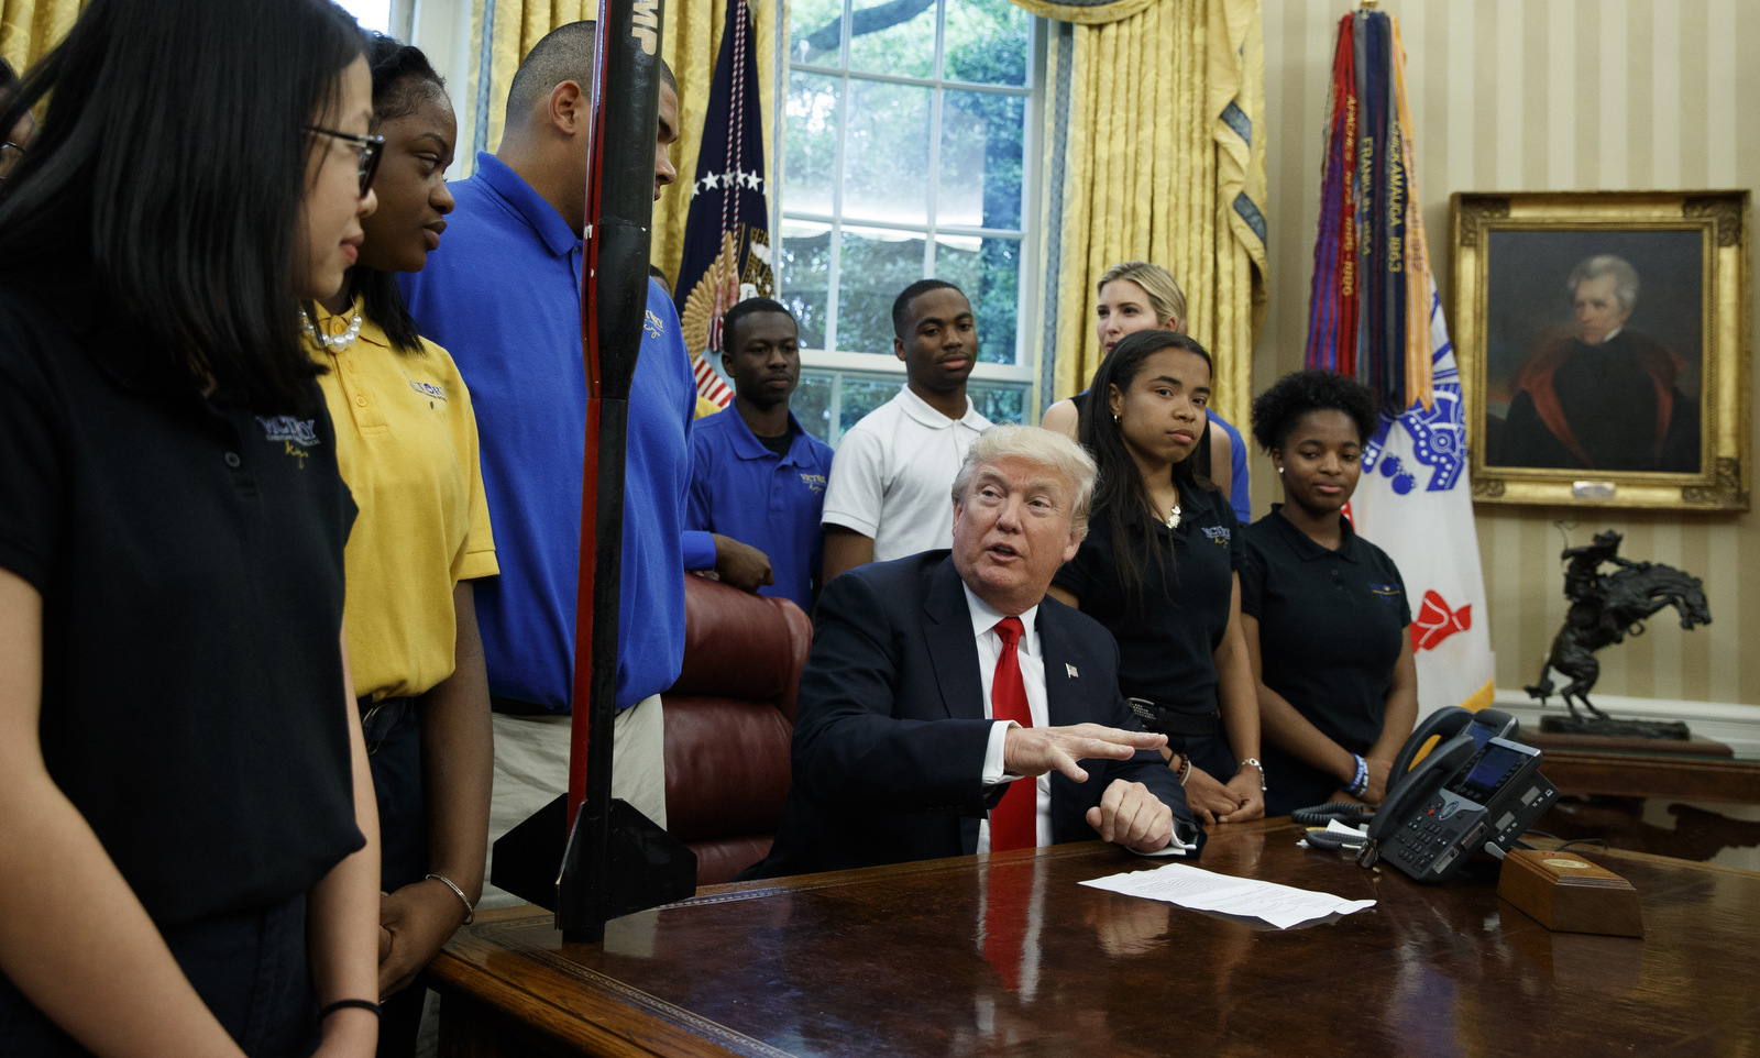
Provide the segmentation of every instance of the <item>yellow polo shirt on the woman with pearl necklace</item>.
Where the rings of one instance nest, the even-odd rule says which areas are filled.
[[[357,306],[359,308],[359,306]],[[348,315],[317,310],[320,333]],[[336,463],[361,509],[343,553],[354,692],[417,695],[456,667],[452,588],[500,572],[477,465],[477,415],[451,354],[391,347],[364,320],[341,352],[317,350],[336,421]]]

